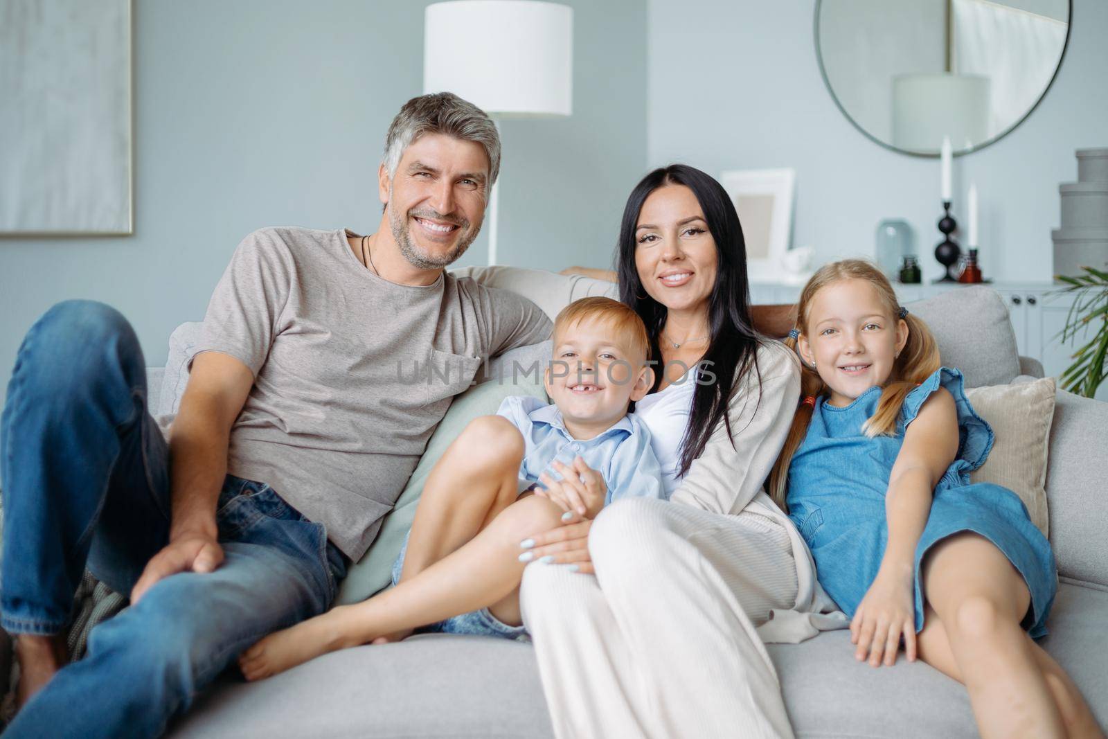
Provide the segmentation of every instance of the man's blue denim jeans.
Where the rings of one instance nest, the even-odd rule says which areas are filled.
[[[146,410],[134,330],[99,302],[66,301],[31,327],[0,421],[0,623],[58,634],[88,566],[124,595],[168,542],[166,443]],[[238,654],[322,613],[346,562],[269,485],[227,475],[216,514],[226,556],[181,573],[93,629],[6,732],[155,737]]]

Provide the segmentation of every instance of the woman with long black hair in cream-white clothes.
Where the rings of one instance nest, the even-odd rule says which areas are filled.
[[[799,642],[844,624],[813,615],[834,606],[762,491],[800,372],[752,328],[742,229],[719,183],[685,165],[648,174],[624,212],[618,280],[664,368],[636,411],[674,492],[534,537],[535,557],[595,573],[524,574],[555,731],[792,736],[761,637]]]

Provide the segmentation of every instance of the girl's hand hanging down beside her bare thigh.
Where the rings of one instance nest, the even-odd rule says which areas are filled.
[[[911,566],[896,572],[884,567],[878,572],[865,597],[850,622],[850,640],[856,644],[854,658],[862,661],[869,654],[870,665],[879,667],[896,663],[901,635],[909,661],[915,661],[915,604]]]

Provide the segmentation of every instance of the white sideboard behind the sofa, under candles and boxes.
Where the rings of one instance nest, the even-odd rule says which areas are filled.
[[[965,288],[964,285],[956,283],[893,286],[901,302],[905,304],[923,300],[946,290]],[[803,281],[751,281],[751,302],[755,305],[796,302],[802,287]],[[1073,302],[1069,295],[1060,292],[1064,286],[1060,283],[988,283],[986,287],[999,292],[1008,306],[1019,353],[1043,362],[1043,369],[1048,377],[1061,374],[1073,361],[1070,355],[1085,342],[1080,340],[1080,336],[1078,342],[1070,340],[1066,345],[1058,339]],[[1108,400],[1108,382],[1100,386],[1097,399]]]

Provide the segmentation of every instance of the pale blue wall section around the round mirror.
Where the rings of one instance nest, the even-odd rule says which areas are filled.
[[[793,167],[793,244],[817,259],[872,255],[878,222],[915,229],[934,276],[938,163],[865,138],[820,76],[814,2],[649,0],[647,132],[652,166],[680,160],[711,174]],[[1074,0],[1069,49],[1046,97],[1016,131],[954,160],[955,215],[981,194],[986,276],[1049,280],[1058,184],[1077,178],[1075,148],[1108,146],[1108,3]]]

